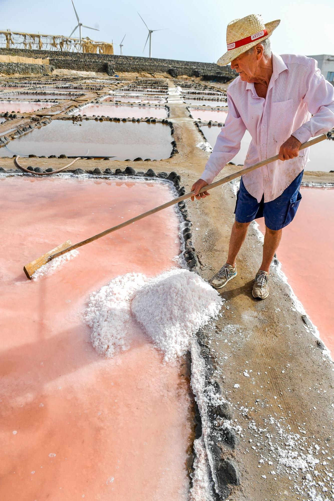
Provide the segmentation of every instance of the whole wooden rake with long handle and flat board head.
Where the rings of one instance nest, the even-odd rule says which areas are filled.
[[[323,134],[322,136],[316,137],[314,139],[311,139],[310,141],[307,141],[307,143],[303,143],[299,150],[303,150],[304,148],[308,148],[309,146],[312,146],[313,144],[319,143],[320,141],[323,141],[326,139],[326,135]],[[235,172],[234,174],[230,174],[229,176],[223,177],[222,179],[219,179],[218,181],[215,181],[212,184],[209,184],[207,186],[204,186],[202,189],[200,189],[200,193],[202,191],[208,191],[212,188],[215,188],[216,186],[220,186],[221,184],[227,183],[229,181],[232,181],[232,179],[236,179],[237,177],[247,174],[248,172],[251,172],[252,170],[258,169],[259,167],[262,167],[263,165],[266,165],[267,163],[274,162],[275,160],[278,160],[278,155],[275,155],[273,157],[267,158],[266,160],[262,160],[261,162],[258,162],[254,165],[251,165],[250,167],[247,167],[246,169],[239,170],[238,172]],[[101,238],[102,236],[108,235],[109,233],[112,233],[113,231],[117,231],[118,229],[124,228],[125,226],[128,226],[129,224],[132,224],[133,222],[139,221],[140,219],[143,219],[144,217],[147,217],[151,214],[155,214],[155,212],[159,212],[159,210],[166,209],[167,207],[170,207],[171,205],[174,205],[178,202],[181,202],[182,200],[186,200],[187,198],[190,198],[193,196],[193,192],[190,191],[189,193],[185,193],[182,196],[179,196],[178,198],[174,198],[170,202],[166,202],[162,205],[159,205],[158,207],[155,207],[154,209],[148,210],[147,212],[144,212],[143,214],[139,214],[136,217],[132,217],[128,221],[124,221],[121,224],[117,224],[116,226],[113,226],[112,228],[106,229],[105,231],[102,231],[101,233],[98,233],[97,235],[91,236],[90,238],[87,238],[86,240],[83,240],[82,242],[75,243],[72,245],[71,240],[67,240],[66,242],[62,243],[61,245],[58,245],[58,247],[55,247],[52,250],[49,250],[46,254],[43,254],[40,258],[35,259],[28,265],[24,267],[24,272],[27,275],[29,279],[32,278],[33,274],[41,268],[41,266],[49,263],[51,260],[54,258],[58,258],[59,256],[62,256],[63,254],[66,254],[70,252],[70,250],[74,250],[78,247],[81,247],[82,245],[86,245],[86,243],[93,242],[94,240],[97,240],[98,238]]]

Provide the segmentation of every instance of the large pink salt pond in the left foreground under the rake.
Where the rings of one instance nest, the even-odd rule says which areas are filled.
[[[1,499],[188,499],[184,364],[163,364],[135,322],[130,349],[104,358],[83,318],[90,295],[113,278],[175,266],[174,207],[81,247],[53,275],[34,282],[23,272],[60,242],[172,196],[155,182],[0,178],[0,210],[11,214],[0,244]]]

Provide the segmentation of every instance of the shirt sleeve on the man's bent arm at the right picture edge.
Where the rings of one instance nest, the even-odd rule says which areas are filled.
[[[292,132],[301,143],[334,127],[334,87],[321,75],[315,59],[309,58],[309,61],[302,100],[313,116]]]

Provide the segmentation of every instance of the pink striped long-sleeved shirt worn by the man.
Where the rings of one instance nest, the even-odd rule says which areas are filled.
[[[237,154],[247,129],[252,137],[244,167],[277,155],[293,135],[301,143],[334,127],[334,87],[306,56],[272,54],[272,76],[266,98],[254,84],[237,77],[227,89],[228,115],[201,175],[210,184]],[[313,116],[311,116],[313,115]],[[277,198],[303,170],[309,148],[298,157],[269,163],[242,176],[248,193],[258,201]]]

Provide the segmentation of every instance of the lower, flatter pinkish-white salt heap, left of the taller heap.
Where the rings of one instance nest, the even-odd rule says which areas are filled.
[[[129,303],[133,293],[146,280],[144,275],[128,273],[116,277],[90,297],[85,319],[92,327],[92,344],[101,355],[112,357],[116,351],[129,349]]]

